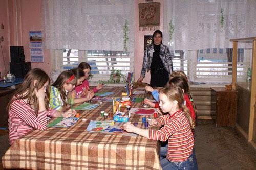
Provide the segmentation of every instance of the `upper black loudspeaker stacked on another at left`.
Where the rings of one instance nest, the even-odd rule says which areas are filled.
[[[23,46],[10,46],[10,54],[12,63],[25,62]]]

